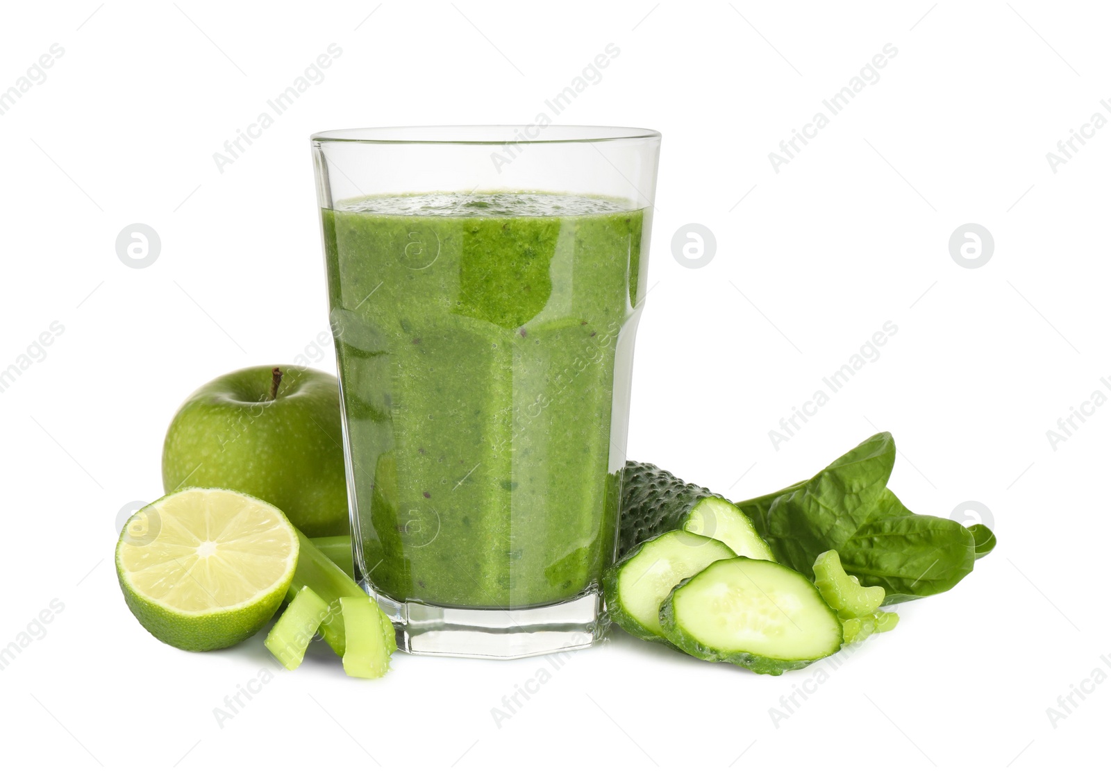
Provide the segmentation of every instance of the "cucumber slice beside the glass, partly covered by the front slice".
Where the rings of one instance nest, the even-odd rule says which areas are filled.
[[[660,603],[677,583],[715,560],[735,557],[721,541],[672,530],[642,543],[602,579],[610,617],[641,640],[664,642]]]

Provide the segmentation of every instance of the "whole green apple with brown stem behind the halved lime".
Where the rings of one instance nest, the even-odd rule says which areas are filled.
[[[310,537],[349,532],[340,392],[301,367],[249,367],[201,386],[162,447],[162,484],[261,498]]]

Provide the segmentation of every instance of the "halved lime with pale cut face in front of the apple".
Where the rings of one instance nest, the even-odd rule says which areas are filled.
[[[209,651],[266,624],[297,555],[297,530],[277,507],[233,490],[191,488],[132,514],[116,547],[116,571],[148,632],[174,648]]]

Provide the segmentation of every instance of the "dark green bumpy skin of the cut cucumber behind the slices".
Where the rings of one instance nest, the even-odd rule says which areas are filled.
[[[625,463],[621,481],[618,559],[653,535],[681,530],[683,517],[703,498],[721,495],[697,484],[688,484],[658,465],[637,461]]]

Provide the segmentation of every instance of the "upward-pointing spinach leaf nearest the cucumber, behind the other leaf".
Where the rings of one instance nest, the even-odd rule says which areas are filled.
[[[813,578],[818,555],[830,549],[840,551],[877,513],[894,462],[894,440],[888,432],[878,433],[805,484],[775,498],[764,517],[775,559]]]

